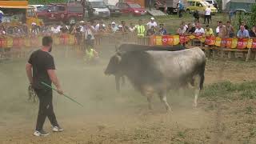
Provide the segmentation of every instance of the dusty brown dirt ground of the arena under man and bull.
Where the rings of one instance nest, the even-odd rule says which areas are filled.
[[[198,99],[193,108],[191,94],[169,94],[173,112],[166,114],[154,98],[148,110],[146,98],[129,82],[115,91],[114,77],[103,74],[108,57],[97,66],[86,66],[75,54],[56,53],[55,62],[63,90],[81,102],[78,106],[54,93],[54,110],[62,133],[33,136],[38,103],[28,102],[26,59],[0,62],[0,144],[94,144],[94,143],[256,143],[256,100],[210,101]],[[255,62],[208,59],[206,82],[256,80]],[[246,114],[250,107],[252,113]],[[255,134],[254,134],[255,133]]]

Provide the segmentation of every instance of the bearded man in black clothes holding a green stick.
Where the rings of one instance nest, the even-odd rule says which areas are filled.
[[[50,55],[52,45],[53,39],[51,37],[46,36],[42,38],[42,48],[34,51],[34,53],[30,55],[29,61],[26,64],[27,77],[29,78],[30,85],[34,88],[39,99],[38,120],[36,130],[34,132],[35,136],[48,135],[48,133],[42,129],[46,117],[49,118],[54,132],[60,132],[63,130],[58,126],[58,122],[54,114],[52,102],[53,91],[46,86],[43,86],[41,83],[45,82],[51,86],[51,83],[53,82],[58,93],[63,94],[58,78],[55,74],[54,58]]]

